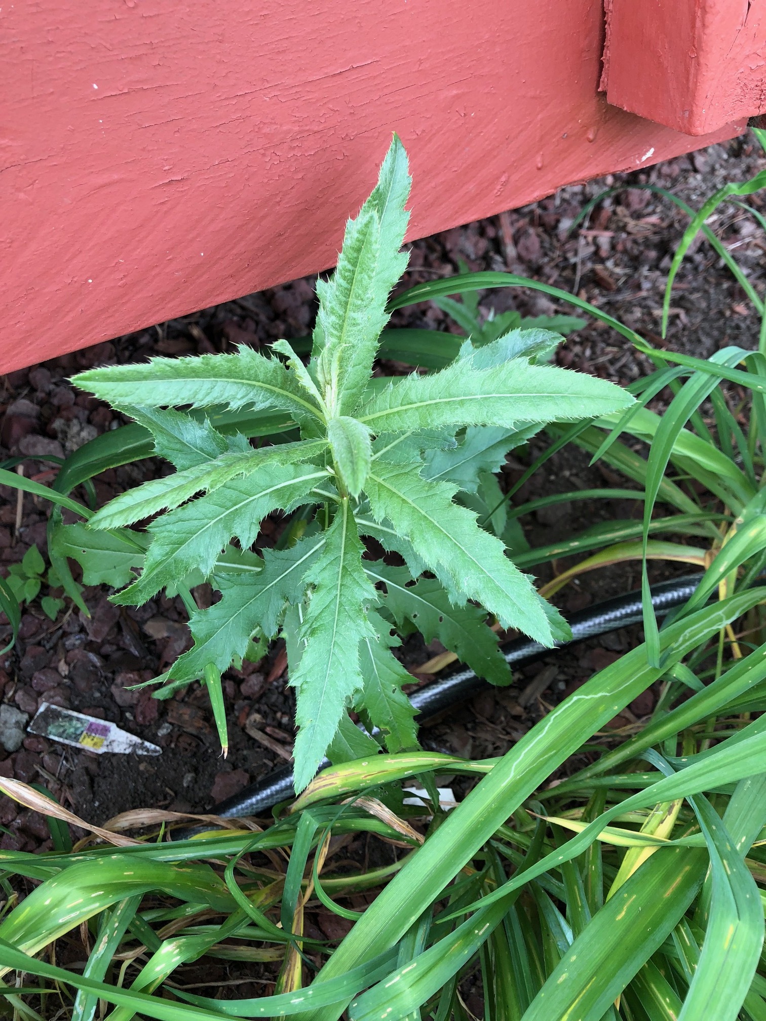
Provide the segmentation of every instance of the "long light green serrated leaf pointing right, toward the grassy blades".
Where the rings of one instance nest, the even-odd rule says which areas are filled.
[[[633,397],[614,383],[513,358],[491,369],[456,361],[430,376],[391,381],[360,411],[374,433],[437,426],[567,422],[621,410]]]

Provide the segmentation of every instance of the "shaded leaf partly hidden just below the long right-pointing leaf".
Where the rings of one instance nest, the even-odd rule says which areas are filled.
[[[504,429],[499,426],[469,426],[461,442],[448,450],[429,450],[425,467],[421,470],[424,479],[443,479],[453,482],[461,489],[475,493],[481,472],[496,472],[506,460],[510,450],[526,443],[539,432],[537,425],[522,425],[518,429]]]

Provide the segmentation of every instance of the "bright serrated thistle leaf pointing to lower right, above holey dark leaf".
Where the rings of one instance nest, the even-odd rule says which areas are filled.
[[[502,543],[478,527],[472,512],[452,502],[454,486],[427,482],[405,465],[378,459],[366,491],[373,515],[388,518],[442,584],[481,602],[504,627],[553,643],[529,578],[508,560]]]

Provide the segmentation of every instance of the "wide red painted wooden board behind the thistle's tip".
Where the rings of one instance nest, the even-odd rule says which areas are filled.
[[[687,151],[597,93],[603,28],[601,0],[3,4],[0,372],[333,264],[392,131],[411,237]]]

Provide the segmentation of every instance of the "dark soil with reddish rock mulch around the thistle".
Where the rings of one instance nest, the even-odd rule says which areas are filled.
[[[461,261],[470,270],[509,270],[576,291],[656,344],[674,350],[707,356],[727,344],[753,348],[757,346],[757,315],[706,243],[692,246],[681,269],[668,336],[661,339],[660,309],[667,270],[687,221],[669,201],[636,186],[656,184],[671,189],[699,207],[726,181],[744,180],[763,166],[759,150],[746,138],[641,173],[564,188],[533,205],[414,243],[405,282],[412,285],[449,276],[459,271]],[[596,206],[587,225],[570,236],[569,228],[583,205],[610,186],[621,190]],[[763,207],[758,195],[750,201]],[[753,217],[728,204],[712,226],[763,292],[764,239]],[[481,307],[487,312],[516,308],[532,315],[571,311],[535,292],[510,289],[486,292]],[[157,353],[223,351],[239,343],[257,346],[278,337],[305,336],[314,314],[314,280],[298,280],[11,373],[3,379],[0,396],[0,458],[25,455],[25,474],[49,482],[55,465],[46,461],[46,456],[65,456],[121,424],[118,415],[76,392],[66,382],[79,369]],[[396,312],[392,325],[449,330],[450,322],[428,303]],[[589,323],[570,336],[558,357],[562,364],[623,384],[651,368],[627,341],[599,323]],[[664,396],[660,395],[661,401]],[[539,448],[533,447],[524,464],[510,461],[507,477],[518,479]],[[96,482],[99,504],[166,471],[159,461],[150,459],[106,472]],[[616,481],[604,469],[588,467],[584,454],[568,450],[534,476],[515,500]],[[619,484],[625,483],[619,480]],[[5,567],[20,561],[33,543],[45,550],[47,504],[27,495],[20,512],[18,507],[16,493],[0,487],[0,560]],[[634,517],[638,507],[632,501],[624,505],[580,501],[548,508],[528,523],[528,538],[533,545],[557,541],[610,515]],[[277,523],[267,523],[265,544],[272,541],[277,528]],[[559,569],[562,566],[557,565]],[[540,577],[549,577],[550,570],[541,571]],[[662,576],[668,573],[665,570]],[[656,569],[656,576],[660,574]],[[628,591],[637,581],[637,568],[594,572],[564,589],[559,601],[564,610],[582,609],[593,600]],[[46,592],[44,586],[42,594]],[[17,751],[0,749],[5,757],[0,761],[0,775],[43,782],[85,819],[103,822],[118,812],[143,807],[207,810],[284,765],[290,753],[294,704],[286,687],[280,643],[257,667],[247,665],[244,673],[232,670],[226,677],[231,748],[224,761],[207,696],[199,685],[170,701],[152,699],[146,689],[127,690],[166,669],[188,647],[186,614],[180,599],[160,597],[138,611],[118,611],[107,601],[108,594],[105,587],[86,589],[90,618],[67,604],[52,623],[39,599],[26,607],[15,648],[0,660],[3,700],[30,715],[45,699],[111,720],[159,744],[162,755],[129,757],[126,761],[28,736]],[[200,605],[210,598],[206,586],[200,586],[195,595]],[[7,634],[9,628],[0,627],[0,632]],[[461,709],[425,728],[424,739],[431,746],[462,756],[501,755],[548,704],[559,701],[637,640],[639,632],[633,628],[552,655],[521,671],[514,687],[487,688],[474,698],[469,712]],[[436,646],[425,649],[422,643],[413,643],[406,649],[408,665],[416,669],[435,651]],[[615,726],[630,728],[652,704],[649,692],[636,699]],[[262,737],[259,742],[246,733],[248,718],[249,729],[266,735],[267,743]],[[42,820],[18,812],[6,798],[0,803],[0,824],[5,827],[1,847],[35,850],[49,845]]]

